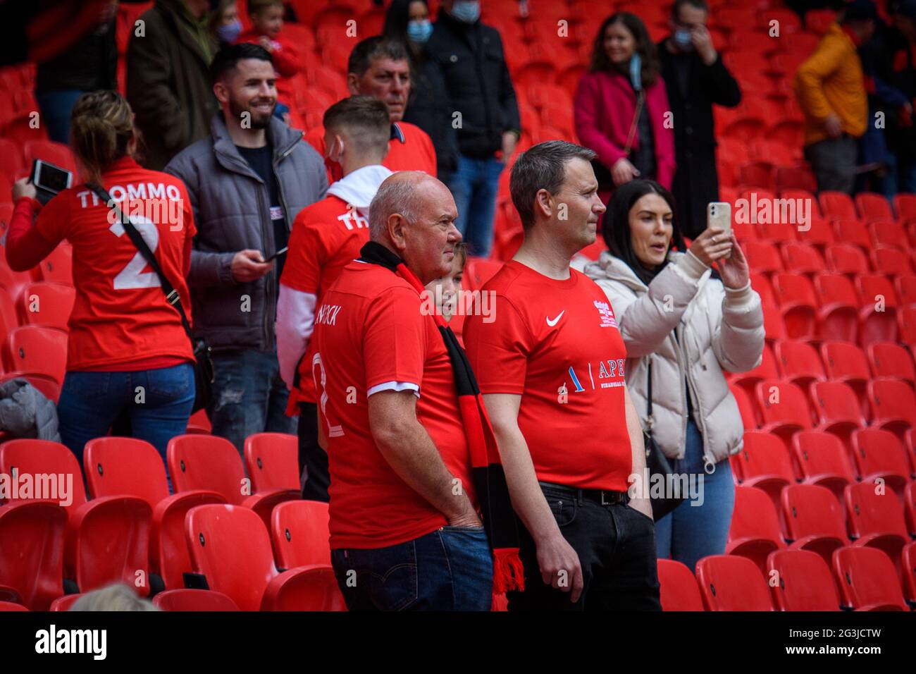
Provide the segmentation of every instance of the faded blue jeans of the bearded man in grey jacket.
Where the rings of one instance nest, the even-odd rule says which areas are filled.
[[[254,433],[296,435],[299,417],[286,415],[289,391],[280,379],[277,351],[246,348],[213,354],[213,396],[207,414],[213,435],[229,440],[244,456]]]

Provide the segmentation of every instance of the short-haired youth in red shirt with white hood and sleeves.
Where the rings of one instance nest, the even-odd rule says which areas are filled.
[[[289,235],[277,303],[277,357],[289,391],[287,413],[299,414],[302,498],[328,501],[328,456],[318,444],[318,408],[311,381],[310,337],[315,306],[359,257],[369,240],[369,204],[391,171],[381,166],[388,149],[388,110],[372,96],[350,96],[324,113],[328,153],[344,177],[320,202],[303,208]]]

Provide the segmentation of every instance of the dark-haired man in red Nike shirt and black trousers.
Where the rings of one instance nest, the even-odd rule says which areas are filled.
[[[594,156],[552,140],[516,160],[509,190],[525,240],[484,286],[495,315],[464,325],[527,529],[525,591],[509,593],[510,611],[660,610],[651,507],[627,496],[645,466],[627,350],[605,293],[570,268],[605,211]]]

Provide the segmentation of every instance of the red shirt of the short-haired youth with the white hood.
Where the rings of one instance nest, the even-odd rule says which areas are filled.
[[[324,293],[337,281],[344,267],[359,257],[368,240],[368,220],[339,196],[331,194],[296,215],[280,282],[301,293],[315,295],[319,306]],[[309,403],[317,401],[311,379],[313,344],[314,339],[300,362],[297,390],[297,400]]]

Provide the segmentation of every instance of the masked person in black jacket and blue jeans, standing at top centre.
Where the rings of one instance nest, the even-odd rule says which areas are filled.
[[[518,100],[496,28],[480,21],[476,0],[443,0],[428,44],[457,126],[458,168],[442,176],[458,204],[458,229],[471,255],[487,257],[499,176],[521,129]]]

